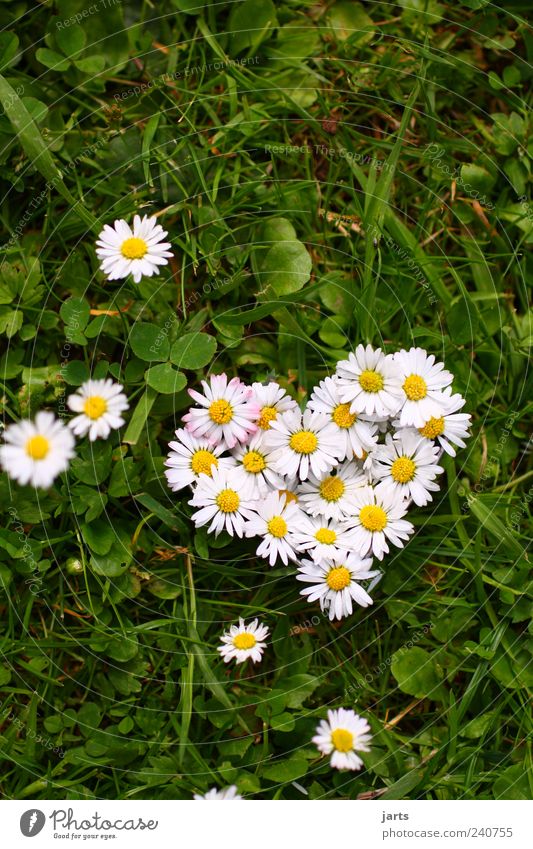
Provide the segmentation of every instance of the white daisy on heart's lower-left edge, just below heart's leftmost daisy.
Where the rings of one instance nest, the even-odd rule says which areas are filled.
[[[244,521],[251,518],[254,506],[252,484],[238,469],[211,466],[211,476],[200,474],[189,504],[200,509],[193,513],[197,528],[209,525],[208,533],[218,536],[224,529],[234,536],[244,534]]]

